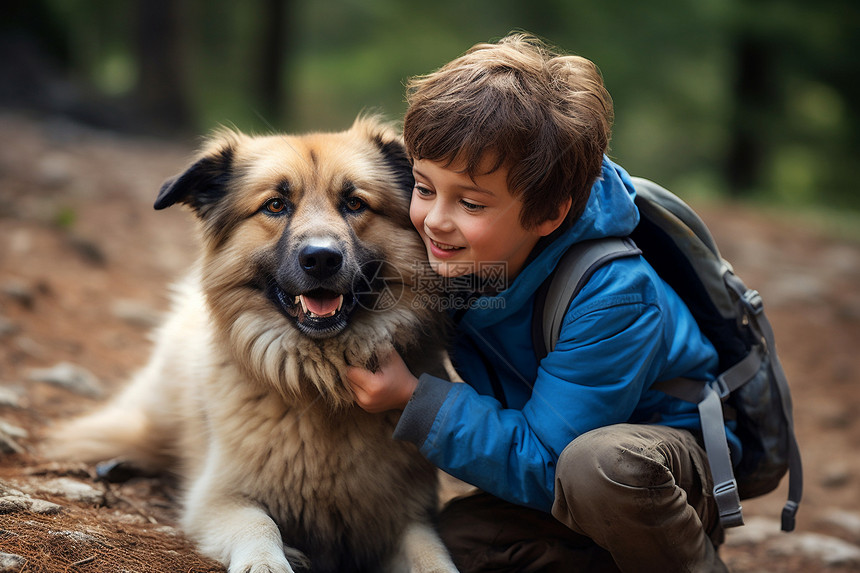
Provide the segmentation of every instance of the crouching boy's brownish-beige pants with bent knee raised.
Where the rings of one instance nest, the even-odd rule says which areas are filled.
[[[440,515],[470,571],[727,571],[707,456],[690,432],[620,424],[583,434],[556,467],[552,515],[476,494]]]

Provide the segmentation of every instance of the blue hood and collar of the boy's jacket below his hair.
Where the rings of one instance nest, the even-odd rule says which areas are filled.
[[[600,177],[591,187],[591,195],[579,219],[526,265],[508,288],[490,297],[503,300],[476,305],[465,313],[463,321],[484,327],[519,311],[571,245],[590,239],[628,236],[639,223],[639,210],[633,202],[635,196],[636,190],[627,172],[604,156]]]

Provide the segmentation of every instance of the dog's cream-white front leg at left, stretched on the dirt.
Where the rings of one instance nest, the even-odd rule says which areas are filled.
[[[202,553],[223,563],[229,573],[294,573],[272,518],[230,491],[230,480],[212,471],[214,464],[207,465],[189,490],[182,520]],[[290,557],[304,561],[298,551]]]

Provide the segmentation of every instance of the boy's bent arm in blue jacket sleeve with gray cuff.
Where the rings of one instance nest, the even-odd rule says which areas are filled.
[[[548,511],[561,451],[588,430],[630,418],[662,344],[661,312],[641,297],[595,300],[592,308],[562,330],[522,410],[425,375],[395,437],[488,493]]]

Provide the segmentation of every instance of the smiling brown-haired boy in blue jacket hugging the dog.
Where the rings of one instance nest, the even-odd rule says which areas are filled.
[[[482,490],[440,516],[458,567],[725,571],[696,407],[650,389],[715,375],[680,298],[641,257],[612,261],[555,349],[538,363],[532,348],[535,291],[565,250],[639,218],[604,155],[612,103],[595,66],[512,35],[413,80],[408,103],[412,222],[438,274],[484,279],[454,314],[466,384],[416,379],[396,353],[348,378],[364,409],[403,411],[395,438]]]

